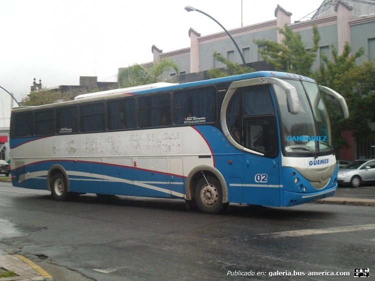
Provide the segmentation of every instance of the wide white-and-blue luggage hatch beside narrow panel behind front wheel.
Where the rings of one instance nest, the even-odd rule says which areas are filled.
[[[134,195],[170,197],[167,158],[137,158],[133,161]]]

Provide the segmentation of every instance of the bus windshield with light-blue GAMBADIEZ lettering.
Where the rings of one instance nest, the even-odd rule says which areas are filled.
[[[328,113],[317,84],[300,80],[286,81],[297,90],[299,112],[291,114],[288,111],[285,93],[274,85],[280,108],[284,151],[304,154],[331,151]]]

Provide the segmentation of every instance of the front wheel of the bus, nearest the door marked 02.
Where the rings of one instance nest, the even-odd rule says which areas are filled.
[[[216,214],[223,209],[222,188],[216,177],[206,175],[197,181],[195,202],[200,211],[204,213]]]

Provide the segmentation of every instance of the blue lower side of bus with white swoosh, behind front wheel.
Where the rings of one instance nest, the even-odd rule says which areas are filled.
[[[50,160],[39,161],[15,169],[14,174],[17,174],[17,177],[14,185],[26,187],[27,181],[33,188],[46,189],[46,175],[50,163]],[[112,169],[108,166],[113,164],[79,160],[59,160],[53,163],[64,167],[69,177],[70,191],[73,192],[184,197],[185,178],[181,175],[120,165],[116,165],[119,169]],[[103,169],[105,173],[100,172]],[[25,174],[18,174],[17,171],[24,171]],[[150,173],[155,175],[155,180],[150,180]],[[25,179],[18,181],[18,178],[22,177]],[[82,184],[82,181],[86,184]]]

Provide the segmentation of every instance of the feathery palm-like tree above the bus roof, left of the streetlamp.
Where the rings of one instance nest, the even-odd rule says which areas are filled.
[[[132,64],[130,66],[120,68],[118,72],[118,86],[132,87],[161,81],[161,75],[173,68],[178,74],[177,64],[168,58],[164,58],[152,66],[143,66],[140,64]]]

